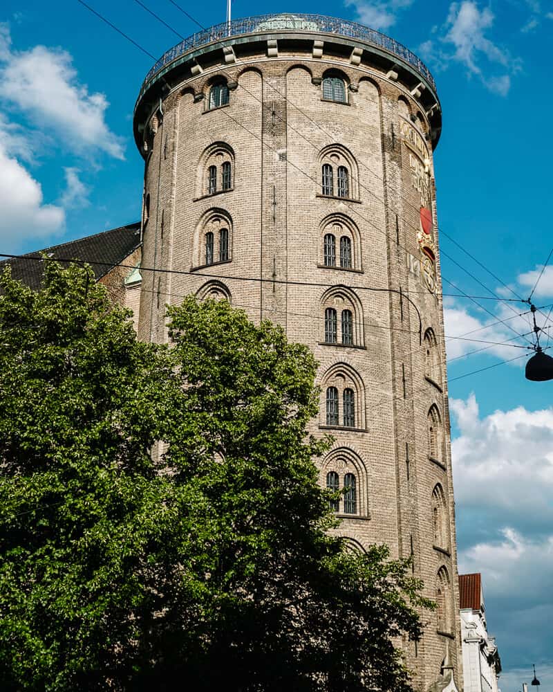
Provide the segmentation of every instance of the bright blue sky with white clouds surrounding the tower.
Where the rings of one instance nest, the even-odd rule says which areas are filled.
[[[178,42],[133,0],[90,3],[153,55]],[[182,35],[197,28],[168,0],[145,4]],[[225,19],[222,1],[183,6],[204,26]],[[233,4],[234,17],[269,11],[364,21],[429,64],[444,116],[435,152],[442,274],[469,295],[514,298],[505,282],[527,298],[553,246],[553,1]],[[0,252],[138,220],[142,160],[131,118],[152,61],[76,0],[5,0],[0,22]],[[458,292],[444,282],[444,293]],[[534,301],[553,303],[553,266]],[[445,302],[451,336],[503,342],[515,336],[510,327],[529,331],[527,316],[515,315],[522,302],[478,299],[489,312],[465,298]],[[498,319],[509,322],[481,329]],[[525,358],[470,374],[525,353],[470,354],[486,346],[448,343],[460,570],[483,574],[503,692],[529,682],[532,662],[543,689],[553,689],[553,383],[525,381]]]

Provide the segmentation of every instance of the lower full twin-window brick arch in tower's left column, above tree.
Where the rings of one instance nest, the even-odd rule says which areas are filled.
[[[222,209],[210,209],[196,228],[193,268],[231,260],[232,219]]]

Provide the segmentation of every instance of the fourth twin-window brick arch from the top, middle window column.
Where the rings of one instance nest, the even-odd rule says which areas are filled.
[[[365,387],[359,374],[347,363],[335,363],[321,383],[321,426],[364,429]]]

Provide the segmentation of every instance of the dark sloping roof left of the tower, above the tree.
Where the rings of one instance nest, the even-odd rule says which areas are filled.
[[[120,264],[140,245],[140,223],[104,230],[103,233],[88,235],[86,238],[72,240],[45,250],[21,255],[12,260],[0,262],[0,273],[11,265],[12,277],[24,282],[32,289],[39,289],[44,262],[39,262],[41,253],[56,260],[82,260],[93,268],[96,280],[100,280],[113,266]]]

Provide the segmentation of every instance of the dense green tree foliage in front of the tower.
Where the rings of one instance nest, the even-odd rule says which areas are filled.
[[[192,297],[140,343],[75,266],[0,282],[2,689],[410,689],[429,603],[329,532],[307,347]]]

